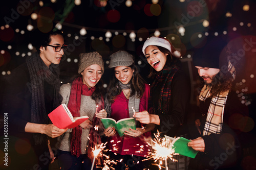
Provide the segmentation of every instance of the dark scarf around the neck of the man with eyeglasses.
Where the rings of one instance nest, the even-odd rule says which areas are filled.
[[[31,122],[35,124],[49,124],[50,119],[46,113],[45,107],[45,89],[44,82],[53,85],[54,87],[54,108],[60,105],[61,97],[58,94],[59,81],[59,66],[51,64],[49,68],[42,61],[39,54],[35,53],[33,56],[26,58],[31,84],[27,83],[32,93],[31,101]],[[47,142],[47,135],[33,133],[35,144]]]

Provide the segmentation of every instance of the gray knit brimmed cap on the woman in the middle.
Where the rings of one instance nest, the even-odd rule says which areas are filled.
[[[110,56],[110,68],[117,66],[130,66],[134,63],[133,55],[126,51],[118,51]]]

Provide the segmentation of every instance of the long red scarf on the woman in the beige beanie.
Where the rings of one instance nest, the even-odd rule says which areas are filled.
[[[73,117],[80,117],[81,94],[91,96],[94,90],[95,87],[89,89],[86,84],[82,83],[82,77],[78,77],[72,82],[68,108]],[[70,149],[71,154],[76,157],[81,155],[81,134],[82,128],[80,126],[73,128],[70,138]]]

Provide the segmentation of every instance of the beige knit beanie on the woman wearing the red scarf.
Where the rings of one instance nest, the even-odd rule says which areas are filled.
[[[103,75],[104,62],[102,60],[101,55],[98,52],[81,53],[79,55],[78,74],[80,74],[84,69],[93,64],[98,64],[101,67]]]

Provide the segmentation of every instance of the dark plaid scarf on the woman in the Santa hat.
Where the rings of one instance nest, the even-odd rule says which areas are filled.
[[[171,91],[171,85],[173,81],[173,77],[176,74],[176,72],[180,69],[177,65],[173,65],[172,68],[168,71],[168,66],[171,63],[166,63],[165,66],[163,67],[162,71],[158,72],[156,79],[152,83],[151,88],[154,90],[154,88],[162,81],[164,81],[160,94],[159,94],[159,105],[158,105],[158,110],[161,110],[163,114],[166,114],[168,112],[169,108],[169,101],[170,101],[170,96],[172,95]],[[149,112],[150,114],[156,114],[155,106],[152,101],[152,91],[150,92],[150,98],[148,101],[148,106],[149,106]]]

